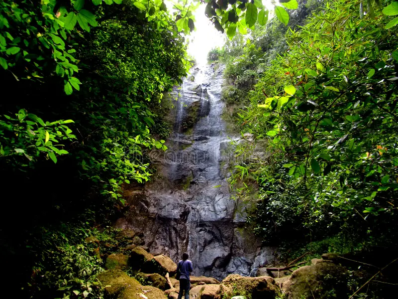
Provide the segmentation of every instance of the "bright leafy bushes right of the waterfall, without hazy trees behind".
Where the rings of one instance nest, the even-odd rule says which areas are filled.
[[[252,220],[267,240],[292,230],[395,236],[387,224],[398,188],[398,41],[384,29],[388,18],[361,19],[358,5],[336,2],[292,31],[289,51],[239,114],[244,131],[267,139],[272,152],[246,165],[261,190]]]

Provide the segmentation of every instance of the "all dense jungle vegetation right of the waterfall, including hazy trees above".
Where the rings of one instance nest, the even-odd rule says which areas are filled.
[[[264,241],[291,254],[396,252],[397,5],[303,1],[289,28],[274,18],[209,53],[226,64],[224,118],[267,141],[267,157],[242,159],[230,177],[255,201]]]

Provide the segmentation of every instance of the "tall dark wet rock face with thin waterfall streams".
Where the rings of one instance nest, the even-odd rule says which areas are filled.
[[[274,249],[262,247],[244,229],[246,204],[229,194],[226,175],[233,154],[221,119],[222,67],[195,68],[192,75],[194,81],[184,80],[174,91],[178,101],[168,150],[151,152],[157,174],[132,194],[131,208],[116,227],[142,231],[150,252],[174,262],[188,252],[193,275],[219,280],[230,273],[255,276],[260,265],[271,262]],[[187,130],[190,115],[195,124]]]

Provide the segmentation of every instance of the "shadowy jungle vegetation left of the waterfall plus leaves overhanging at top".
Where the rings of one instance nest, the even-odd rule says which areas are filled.
[[[259,1],[204,2],[231,37],[268,15]],[[167,149],[166,95],[192,66],[199,4],[0,2],[0,248],[14,296],[102,298],[95,244],[113,248],[104,229],[126,207],[123,187],[148,181],[148,151]],[[285,23],[288,6],[275,8]]]

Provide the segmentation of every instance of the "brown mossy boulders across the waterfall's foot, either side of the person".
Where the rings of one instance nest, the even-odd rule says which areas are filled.
[[[100,242],[96,237],[86,238],[87,243],[98,246],[95,252],[105,260],[106,271],[98,279],[107,297],[177,299],[176,263],[163,254],[148,252],[139,235],[122,230],[116,235],[116,245]],[[221,282],[211,277],[191,276],[190,298],[302,299],[328,298],[328,295],[345,298],[347,279],[347,270],[336,263],[333,255],[326,254],[295,271],[291,267],[259,268],[257,277],[230,274]]]

